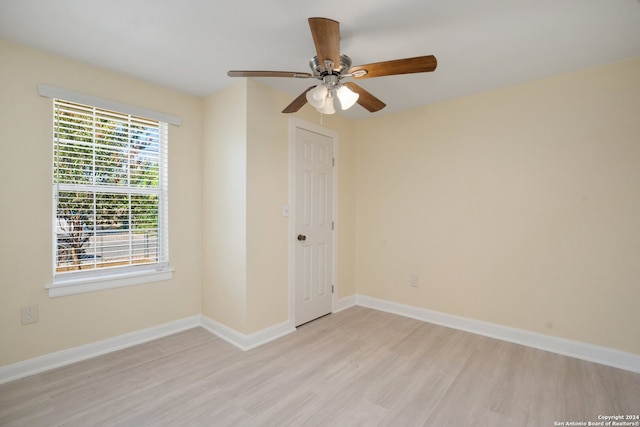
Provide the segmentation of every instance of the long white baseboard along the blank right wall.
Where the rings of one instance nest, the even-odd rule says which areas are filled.
[[[550,351],[563,356],[575,357],[576,359],[640,373],[640,355],[633,353],[626,353],[608,347],[572,341],[364,295],[356,295],[355,304],[490,338],[496,338],[502,341]]]

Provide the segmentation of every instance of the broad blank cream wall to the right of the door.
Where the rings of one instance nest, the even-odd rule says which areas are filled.
[[[634,59],[358,122],[358,293],[640,354],[639,113]]]

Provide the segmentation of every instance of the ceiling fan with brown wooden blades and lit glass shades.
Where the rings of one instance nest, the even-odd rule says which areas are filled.
[[[386,104],[346,78],[368,79],[397,74],[424,73],[438,65],[435,56],[395,59],[373,64],[351,66],[351,58],[340,53],[340,23],[328,18],[309,18],[309,27],[317,55],[309,61],[311,73],[295,71],[243,71],[231,70],[229,77],[293,77],[314,78],[322,83],[307,88],[291,102],[283,113],[295,113],[309,102],[322,114],[334,114],[334,99],[338,98],[342,110],[356,102],[370,112],[383,109]]]

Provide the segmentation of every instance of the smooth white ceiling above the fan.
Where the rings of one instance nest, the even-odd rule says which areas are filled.
[[[0,0],[0,37],[207,96],[230,69],[309,72],[312,16],[340,22],[353,65],[438,59],[359,81],[374,115],[640,56],[640,0]],[[260,81],[292,100],[316,82]]]

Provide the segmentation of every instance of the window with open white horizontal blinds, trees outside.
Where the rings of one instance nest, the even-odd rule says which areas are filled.
[[[166,122],[54,99],[50,295],[167,278],[167,145]]]

